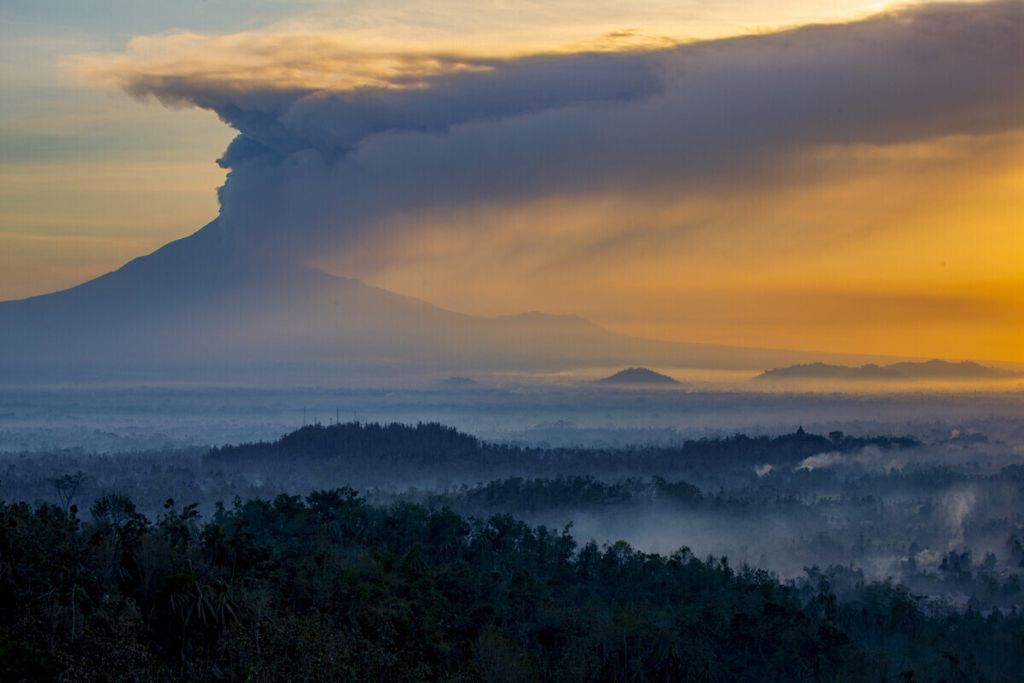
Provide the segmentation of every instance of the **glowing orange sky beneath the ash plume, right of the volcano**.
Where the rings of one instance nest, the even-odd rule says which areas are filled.
[[[817,177],[781,188],[404,217],[419,229],[322,265],[458,310],[578,312],[645,337],[1024,360],[1024,135],[812,156]]]

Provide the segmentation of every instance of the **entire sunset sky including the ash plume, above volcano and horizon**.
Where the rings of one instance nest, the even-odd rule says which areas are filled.
[[[8,0],[0,27],[0,300],[219,212],[247,258],[469,313],[1024,361],[1019,2]]]

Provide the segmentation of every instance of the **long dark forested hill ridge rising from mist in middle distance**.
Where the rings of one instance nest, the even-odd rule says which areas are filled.
[[[584,474],[624,468],[665,475],[701,463],[793,464],[820,453],[852,453],[867,445],[908,449],[916,442],[909,437],[856,437],[842,432],[824,436],[800,428],[775,437],[736,434],[687,440],[678,445],[550,450],[488,443],[436,423],[415,426],[344,423],[308,425],[276,441],[216,447],[210,451],[209,458],[225,464],[246,460],[333,459],[355,468],[388,466],[410,472],[424,467],[470,468],[488,476]]]

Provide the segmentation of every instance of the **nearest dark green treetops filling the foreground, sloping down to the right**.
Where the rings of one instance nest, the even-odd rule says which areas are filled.
[[[1009,681],[1024,671],[1015,611],[932,613],[898,586],[810,572],[783,586],[685,549],[578,547],[510,516],[379,508],[351,489],[237,500],[205,523],[173,501],[156,522],[118,496],[85,522],[74,509],[0,504],[0,680]]]

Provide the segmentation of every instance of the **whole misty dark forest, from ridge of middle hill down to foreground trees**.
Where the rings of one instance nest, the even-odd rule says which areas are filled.
[[[1024,466],[980,433],[547,449],[313,424],[11,454],[0,500],[5,681],[1024,670]]]

